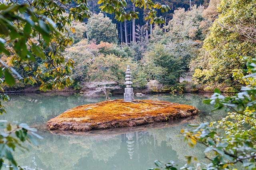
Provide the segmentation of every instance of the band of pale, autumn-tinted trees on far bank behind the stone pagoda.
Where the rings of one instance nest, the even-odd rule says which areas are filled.
[[[201,24],[208,21],[208,18],[204,17],[203,12],[203,6],[193,6],[189,11],[178,9],[164,27],[167,32],[156,24],[149,38],[146,34],[147,28],[137,26],[137,41],[121,45],[116,44],[117,39],[113,35],[116,29],[111,20],[101,13],[94,14],[93,21],[90,19],[86,25],[88,39],[66,49],[66,56],[75,61],[73,78],[76,84],[82,87],[84,82],[98,81],[99,77],[109,80],[108,77],[112,75],[112,81],[122,85],[124,65],[128,63],[134,66],[134,87],[144,88],[149,80],[158,80],[164,85],[179,83],[180,77],[189,70],[191,60],[198,55],[202,40],[206,36],[207,28],[201,28]],[[98,27],[98,24],[101,26]],[[104,32],[109,27],[109,32]],[[90,35],[91,33],[94,35]],[[91,41],[91,37],[96,41]],[[116,66],[122,72],[114,72]]]

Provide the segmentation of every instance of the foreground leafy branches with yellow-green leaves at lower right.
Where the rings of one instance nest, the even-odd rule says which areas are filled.
[[[192,125],[195,127],[193,130],[181,130],[188,145],[194,147],[197,143],[202,144],[204,153],[211,153],[206,154],[210,163],[197,163],[197,169],[233,169],[235,164],[242,164],[243,168],[249,170],[256,168],[256,60],[249,59],[246,65],[243,74],[234,72],[234,77],[246,84],[239,93],[223,96],[219,89],[215,89],[212,97],[204,100],[206,104],[213,104],[214,110],[226,108],[227,116],[218,122]],[[187,156],[188,164],[192,158],[196,160],[196,156]],[[173,161],[165,165],[156,161],[155,164],[161,169],[175,169]],[[193,168],[186,164],[182,169]]]

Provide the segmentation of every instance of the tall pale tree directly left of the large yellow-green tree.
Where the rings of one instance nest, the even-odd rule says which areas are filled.
[[[199,28],[200,22],[203,20],[202,12],[202,6],[198,8],[193,6],[190,11],[185,11],[184,8],[175,10],[172,20],[166,26],[167,33],[158,25],[155,25],[152,31],[149,47],[154,49],[155,45],[162,44],[166,48],[166,52],[175,59],[180,59],[180,68],[177,72],[180,69],[182,72],[189,70],[191,59],[195,58],[201,47],[201,40],[204,39]],[[172,70],[171,72],[174,74],[175,71]],[[182,74],[178,73],[177,75]],[[170,81],[171,84],[174,82],[178,82],[178,78],[176,81]]]

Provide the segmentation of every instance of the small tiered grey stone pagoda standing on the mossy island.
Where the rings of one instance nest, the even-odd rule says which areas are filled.
[[[126,84],[126,88],[124,88],[124,102],[132,102],[134,100],[134,93],[132,88],[132,78],[129,65],[127,66],[125,74],[126,75],[124,84]]]

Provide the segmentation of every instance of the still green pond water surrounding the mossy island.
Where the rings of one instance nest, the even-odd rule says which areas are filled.
[[[154,167],[154,160],[177,164],[186,163],[186,155],[204,159],[204,147],[188,147],[180,130],[188,125],[216,121],[223,111],[211,112],[212,106],[202,103],[210,94],[150,94],[140,99],[164,100],[189,104],[200,110],[199,115],[179,121],[144,125],[136,128],[111,129],[73,134],[50,132],[46,122],[66,109],[82,104],[104,101],[104,96],[85,97],[78,94],[19,94],[10,95],[5,103],[7,114],[1,119],[15,120],[36,127],[44,139],[38,147],[28,145],[28,152],[17,151],[18,164],[39,170],[146,170]],[[120,99],[122,95],[112,96]],[[196,163],[195,163],[196,164]]]

